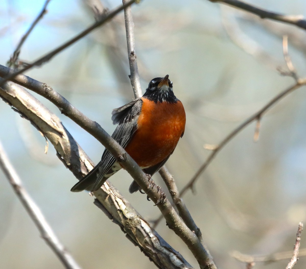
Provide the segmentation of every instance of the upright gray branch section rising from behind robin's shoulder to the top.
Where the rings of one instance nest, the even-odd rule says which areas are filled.
[[[126,0],[122,0],[123,5],[125,5],[126,2],[127,2]],[[129,66],[131,72],[130,80],[135,98],[138,98],[142,96],[142,90],[140,85],[137,57],[135,52],[134,22],[132,17],[131,6],[128,6],[124,9],[124,20],[125,20],[126,41],[128,45]]]

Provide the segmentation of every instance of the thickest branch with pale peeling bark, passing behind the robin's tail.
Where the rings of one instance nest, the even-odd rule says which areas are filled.
[[[20,75],[19,75],[20,76]],[[22,87],[7,82],[0,88],[0,96],[37,125],[53,144],[64,165],[81,179],[93,168],[93,163],[62,125],[60,119]],[[129,239],[161,268],[192,268],[184,258],[168,245],[127,200],[108,181],[95,196],[112,215],[115,223],[129,235]]]

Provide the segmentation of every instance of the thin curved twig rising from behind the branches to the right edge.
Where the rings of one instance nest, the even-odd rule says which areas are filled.
[[[280,99],[284,98],[289,93],[293,92],[294,90],[306,85],[306,78],[305,79],[299,79],[296,84],[293,86],[290,86],[289,88],[286,88],[284,91],[280,92],[278,95],[276,95],[273,99],[270,100],[263,108],[258,110],[255,114],[253,114],[250,118],[245,120],[241,125],[239,125],[236,129],[234,129],[231,133],[229,133],[219,144],[218,146],[211,152],[211,154],[207,157],[206,161],[201,165],[201,167],[196,171],[194,176],[190,179],[190,181],[185,185],[185,187],[181,190],[181,196],[185,194],[185,192],[192,188],[195,181],[199,178],[200,174],[204,172],[204,170],[207,168],[207,166],[211,163],[211,161],[214,159],[215,155],[233,138],[239,133],[242,129],[244,129],[246,126],[248,126],[251,122],[254,120],[261,118],[262,115],[267,112],[267,110],[273,106],[275,103],[277,103]]]

